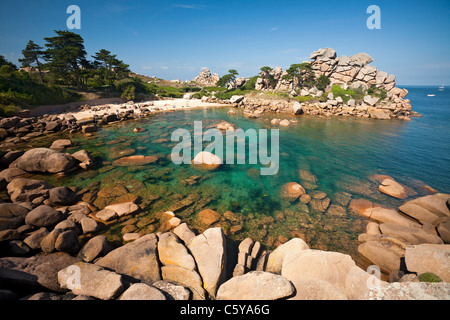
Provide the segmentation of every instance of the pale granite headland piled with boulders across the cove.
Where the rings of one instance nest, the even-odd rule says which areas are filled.
[[[408,90],[396,87],[395,76],[370,65],[373,61],[367,53],[337,57],[331,48],[320,49],[303,62],[309,67],[300,70],[300,76],[310,72],[316,79],[326,77],[324,88],[302,85],[297,78],[289,77],[286,70],[276,67],[262,71],[256,79],[254,88],[261,94],[236,96],[225,102],[244,109],[250,117],[259,117],[264,112],[383,120],[420,116],[411,110],[411,101],[406,99]],[[238,78],[234,87],[238,89],[249,80]],[[204,99],[217,101],[214,95]]]

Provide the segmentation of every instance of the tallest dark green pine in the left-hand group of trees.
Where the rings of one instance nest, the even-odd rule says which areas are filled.
[[[76,33],[55,30],[57,36],[44,38],[47,66],[55,75],[63,78],[67,84],[72,80],[77,88],[83,84],[82,67],[86,65],[86,50],[83,38]]]

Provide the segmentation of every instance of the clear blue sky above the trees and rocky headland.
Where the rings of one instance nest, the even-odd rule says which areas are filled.
[[[28,40],[43,46],[67,30],[72,4],[81,8],[81,30],[72,31],[89,56],[110,50],[148,76],[186,80],[208,67],[250,77],[329,47],[369,53],[398,84],[450,85],[450,0],[0,0],[0,54],[18,64]],[[380,30],[366,27],[372,4]]]

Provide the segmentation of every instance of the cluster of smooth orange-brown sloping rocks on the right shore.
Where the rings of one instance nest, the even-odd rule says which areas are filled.
[[[449,198],[440,193],[424,196],[405,202],[398,210],[364,199],[352,200],[350,209],[372,221],[358,237],[359,253],[387,273],[401,270],[401,277],[404,270],[400,266],[406,262],[409,271],[432,272],[449,281]],[[420,246],[417,251],[416,246]]]

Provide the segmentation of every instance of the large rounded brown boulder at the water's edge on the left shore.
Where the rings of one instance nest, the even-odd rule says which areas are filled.
[[[76,164],[75,158],[68,153],[36,148],[25,152],[11,163],[10,168],[19,168],[27,172],[59,173],[71,170]]]

